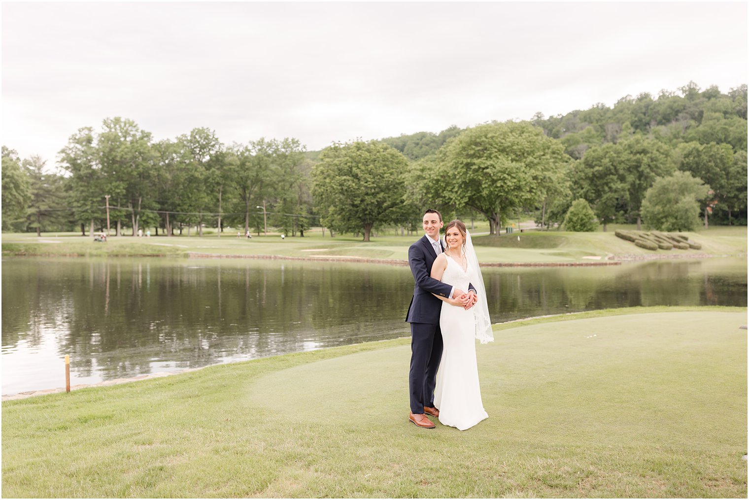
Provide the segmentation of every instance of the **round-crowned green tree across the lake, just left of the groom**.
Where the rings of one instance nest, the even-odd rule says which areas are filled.
[[[362,229],[370,240],[377,224],[397,222],[408,161],[377,141],[336,143],[312,169],[312,195],[324,225],[334,231]]]

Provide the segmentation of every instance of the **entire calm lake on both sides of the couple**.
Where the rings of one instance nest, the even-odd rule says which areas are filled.
[[[636,305],[747,305],[745,258],[483,272],[493,323]],[[76,385],[402,337],[412,292],[405,266],[6,258],[2,393],[64,385],[65,354]]]

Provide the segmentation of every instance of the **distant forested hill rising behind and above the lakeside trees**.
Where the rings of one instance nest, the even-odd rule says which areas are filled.
[[[598,103],[584,111],[548,118],[538,112],[530,122],[562,141],[565,152],[574,159],[582,158],[591,146],[616,143],[620,136],[637,132],[672,147],[680,142],[715,142],[730,144],[737,152],[747,150],[747,86],[723,94],[718,87],[700,91],[697,84],[689,82],[675,92],[661,91],[657,97],[648,93],[625,96],[611,108]],[[436,153],[463,130],[453,125],[439,133],[416,132],[380,140],[415,160]],[[317,159],[319,153],[310,151],[308,156]]]

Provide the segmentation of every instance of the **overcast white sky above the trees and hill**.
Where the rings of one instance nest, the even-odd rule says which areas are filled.
[[[2,144],[82,126],[225,144],[440,132],[747,83],[747,4],[2,3]]]

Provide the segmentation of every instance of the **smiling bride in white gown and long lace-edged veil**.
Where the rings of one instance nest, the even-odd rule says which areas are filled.
[[[440,423],[466,430],[488,418],[481,401],[479,369],[476,366],[476,341],[494,341],[486,303],[486,290],[479,269],[476,251],[466,226],[459,220],[445,229],[447,249],[437,255],[431,277],[467,290],[469,282],[476,285],[479,302],[468,310],[457,300],[443,300],[440,313],[443,353],[434,389],[434,406],[440,410]]]

